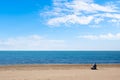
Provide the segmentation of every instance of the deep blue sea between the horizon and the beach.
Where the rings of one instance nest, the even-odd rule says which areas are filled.
[[[0,65],[120,64],[120,51],[0,51]]]

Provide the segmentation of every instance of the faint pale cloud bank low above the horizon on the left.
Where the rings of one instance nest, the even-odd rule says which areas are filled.
[[[64,40],[46,39],[39,35],[0,40],[0,50],[55,50],[65,46]]]

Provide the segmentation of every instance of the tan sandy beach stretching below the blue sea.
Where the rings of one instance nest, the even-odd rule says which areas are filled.
[[[120,80],[120,64],[0,66],[0,80]]]

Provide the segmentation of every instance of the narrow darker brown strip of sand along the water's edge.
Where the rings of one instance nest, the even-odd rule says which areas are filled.
[[[1,69],[22,69],[22,68],[39,68],[39,69],[90,69],[93,64],[15,64],[15,65],[0,65]],[[97,64],[99,68],[111,68],[111,67],[120,67],[120,64]]]

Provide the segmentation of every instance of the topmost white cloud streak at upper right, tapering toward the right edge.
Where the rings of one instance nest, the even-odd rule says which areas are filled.
[[[84,0],[73,0],[71,3],[65,3],[65,5],[68,8],[71,8],[73,10],[77,10],[77,11],[87,11],[87,12],[117,12],[114,8],[112,8],[111,6],[101,6],[98,5],[94,2],[86,2]]]

